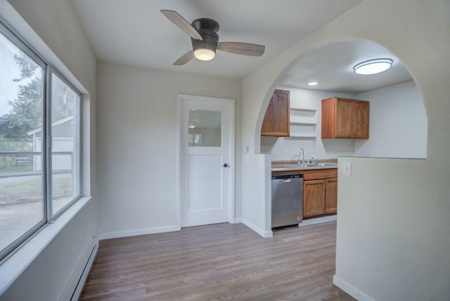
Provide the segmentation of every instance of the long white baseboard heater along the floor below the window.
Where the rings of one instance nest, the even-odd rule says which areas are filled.
[[[78,300],[79,294],[82,293],[87,275],[91,270],[92,262],[94,262],[94,258],[96,257],[97,250],[98,238],[94,237],[91,241],[89,241],[86,250],[84,250],[82,257],[79,260],[77,267],[75,267],[68,285],[65,286],[63,294],[59,300]]]

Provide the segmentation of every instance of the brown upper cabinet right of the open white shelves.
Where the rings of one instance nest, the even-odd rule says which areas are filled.
[[[368,139],[369,102],[331,97],[322,101],[322,139]]]

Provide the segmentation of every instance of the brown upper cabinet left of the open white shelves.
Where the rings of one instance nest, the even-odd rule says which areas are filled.
[[[289,91],[275,90],[262,121],[261,136],[289,136]]]

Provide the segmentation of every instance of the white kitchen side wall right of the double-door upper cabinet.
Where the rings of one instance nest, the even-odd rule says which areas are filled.
[[[355,95],[371,102],[370,136],[355,141],[354,155],[378,158],[426,158],[427,115],[413,81]]]

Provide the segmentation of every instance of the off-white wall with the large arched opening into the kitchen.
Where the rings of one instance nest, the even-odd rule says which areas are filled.
[[[333,282],[359,300],[448,300],[450,295],[450,3],[441,0],[362,1],[243,82],[244,179],[255,166],[264,111],[278,79],[296,58],[321,44],[368,39],[390,49],[411,72],[428,114],[426,160],[348,158],[339,176],[336,274]],[[342,158],[342,160],[347,158]],[[340,159],[340,161],[342,161]],[[269,193],[243,187],[243,219],[264,228]],[[374,276],[371,276],[374,274]]]

